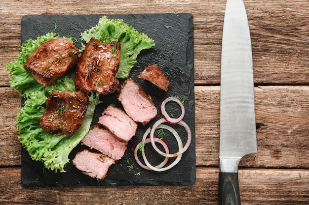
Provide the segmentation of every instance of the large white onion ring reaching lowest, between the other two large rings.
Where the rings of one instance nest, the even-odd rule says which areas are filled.
[[[162,119],[163,119],[163,118],[162,118]],[[168,126],[168,125],[165,125],[165,124],[160,124],[160,125],[157,126],[157,128],[168,129],[170,132],[176,133],[176,135],[174,135],[174,136],[175,136],[175,138],[176,138],[176,140],[177,140],[177,142],[178,142],[178,150],[182,150],[182,148],[183,148],[182,141],[181,141],[181,139],[180,139],[178,133],[176,132],[176,130],[175,130],[174,128],[172,128],[172,127],[170,127],[170,126]],[[153,139],[154,139],[154,138],[153,138]],[[153,141],[154,141],[154,140],[153,140]],[[152,165],[148,162],[148,160],[147,160],[147,158],[146,158],[146,155],[145,155],[145,149],[142,149],[142,155],[143,155],[143,159],[144,159],[144,161],[145,161],[145,164],[146,164],[150,169],[152,169],[152,170],[154,170],[154,171],[156,171],[156,172],[163,172],[163,171],[166,171],[166,170],[171,169],[172,167],[174,167],[174,166],[181,160],[181,157],[182,157],[182,154],[179,154],[179,155],[177,156],[177,158],[176,158],[170,165],[168,165],[167,167],[156,168],[156,167],[152,166]]]

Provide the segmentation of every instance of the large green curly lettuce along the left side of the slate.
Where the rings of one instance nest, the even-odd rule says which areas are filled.
[[[27,40],[21,47],[18,59],[7,64],[6,70],[10,71],[11,88],[15,88],[25,99],[16,117],[19,141],[33,160],[42,162],[47,169],[65,172],[65,165],[70,161],[70,152],[88,133],[95,107],[101,101],[98,93],[90,93],[87,113],[81,127],[74,134],[58,136],[44,131],[39,125],[39,117],[46,110],[45,101],[53,91],[76,91],[74,72],[58,79],[53,85],[44,87],[37,83],[31,72],[23,66],[29,54],[34,52],[41,43],[54,38],[59,36],[50,31],[36,40]],[[72,41],[71,38],[68,39]]]

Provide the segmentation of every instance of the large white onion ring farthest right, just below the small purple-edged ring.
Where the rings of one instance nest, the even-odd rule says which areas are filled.
[[[151,140],[151,143],[152,143],[152,145],[154,147],[154,150],[156,152],[158,152],[159,154],[161,154],[162,156],[165,156],[165,157],[176,157],[176,156],[179,156],[179,155],[183,154],[189,148],[189,146],[191,144],[191,140],[192,140],[192,133],[191,133],[189,125],[185,121],[183,121],[183,120],[178,122],[178,124],[183,126],[186,129],[187,133],[188,133],[187,143],[186,143],[186,145],[184,147],[179,148],[178,152],[176,152],[174,154],[168,154],[168,153],[164,153],[160,149],[158,149],[158,147],[154,143],[154,132],[155,132],[155,130],[157,128],[159,128],[161,125],[163,125],[162,123],[164,123],[164,122],[167,122],[164,118],[161,118],[161,119],[157,120],[154,123],[154,125],[153,125],[153,127],[152,127],[152,129],[150,131],[150,140]],[[165,125],[165,126],[167,126],[167,125]],[[173,133],[174,136],[178,135],[178,133],[176,131],[173,131],[172,133]],[[182,142],[181,142],[181,144],[182,144]],[[179,143],[178,143],[178,146],[179,146]]]

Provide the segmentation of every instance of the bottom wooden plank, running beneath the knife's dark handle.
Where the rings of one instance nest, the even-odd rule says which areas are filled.
[[[192,186],[22,188],[21,169],[0,169],[0,204],[217,205],[218,169],[198,168]],[[242,205],[307,205],[308,170],[239,170]],[[276,187],[276,189],[273,189]],[[52,196],[52,197],[50,197]]]

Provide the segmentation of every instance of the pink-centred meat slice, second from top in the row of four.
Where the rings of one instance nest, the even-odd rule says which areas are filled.
[[[137,124],[121,109],[109,105],[102,116],[99,117],[99,124],[113,133],[120,142],[129,142],[135,135]]]

